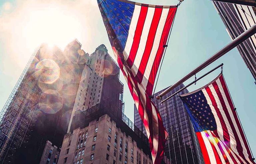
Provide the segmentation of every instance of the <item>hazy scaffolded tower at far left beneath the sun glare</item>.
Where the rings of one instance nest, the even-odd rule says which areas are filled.
[[[35,51],[1,111],[1,164],[39,163],[47,140],[61,146],[87,60],[77,40]]]

